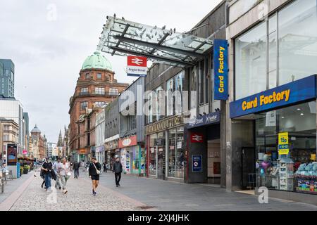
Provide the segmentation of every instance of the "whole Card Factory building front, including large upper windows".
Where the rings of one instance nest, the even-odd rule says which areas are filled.
[[[265,186],[270,197],[316,203],[304,194],[317,191],[316,8],[314,0],[230,3],[230,191]]]

